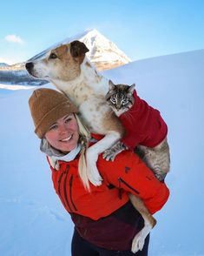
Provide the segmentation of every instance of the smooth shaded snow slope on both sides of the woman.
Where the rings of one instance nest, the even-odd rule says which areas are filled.
[[[204,51],[154,57],[103,74],[136,84],[168,123],[168,203],[155,214],[149,256],[203,256]],[[43,87],[52,87],[46,84]],[[39,151],[28,98],[35,90],[0,89],[0,255],[71,255],[73,225]]]

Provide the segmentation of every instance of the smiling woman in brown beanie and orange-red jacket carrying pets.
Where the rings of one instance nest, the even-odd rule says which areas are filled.
[[[53,185],[75,224],[73,256],[148,255],[131,252],[131,242],[143,226],[139,212],[129,203],[128,193],[139,196],[155,213],[168,199],[168,188],[155,179],[133,152],[122,152],[114,162],[99,156],[102,185],[87,187],[82,165],[88,142],[100,136],[89,132],[77,117],[77,108],[61,92],[37,89],[29,100],[41,150],[48,156]],[[89,141],[88,141],[89,140]],[[79,172],[78,170],[81,170]]]

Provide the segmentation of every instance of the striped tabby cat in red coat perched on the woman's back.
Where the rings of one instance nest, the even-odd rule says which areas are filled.
[[[160,112],[137,96],[135,84],[129,86],[109,81],[106,100],[121,119],[127,134],[103,152],[103,158],[114,160],[119,152],[130,148],[139,154],[155,177],[163,181],[170,169],[170,153],[168,128]]]

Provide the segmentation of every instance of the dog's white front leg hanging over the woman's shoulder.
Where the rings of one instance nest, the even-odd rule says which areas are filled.
[[[102,177],[100,176],[98,169],[96,167],[96,161],[98,155],[108,149],[110,146],[114,145],[119,139],[121,135],[117,131],[109,131],[108,134],[100,141],[95,143],[88,148],[86,154],[87,160],[87,175],[89,181],[93,185],[102,185]]]

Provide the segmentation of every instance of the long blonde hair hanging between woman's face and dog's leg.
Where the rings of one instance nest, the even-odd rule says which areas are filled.
[[[87,174],[87,164],[86,164],[86,151],[89,146],[90,132],[88,128],[82,124],[82,121],[78,117],[78,115],[76,113],[74,113],[74,115],[76,117],[76,121],[79,126],[80,143],[82,145],[80,158],[79,158],[79,165],[78,165],[79,177],[82,180],[82,184],[84,185],[85,189],[90,191],[89,178]]]

